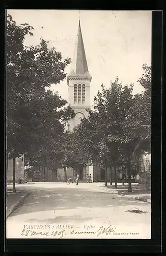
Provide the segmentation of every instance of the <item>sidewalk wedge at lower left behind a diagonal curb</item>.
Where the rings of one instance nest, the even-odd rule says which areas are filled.
[[[6,199],[6,218],[17,208],[19,204],[30,194],[30,191],[18,191],[13,193],[12,190],[8,190],[8,196]]]

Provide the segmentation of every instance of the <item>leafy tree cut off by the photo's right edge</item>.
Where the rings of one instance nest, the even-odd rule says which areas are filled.
[[[151,143],[151,67],[143,65],[145,74],[139,79],[140,84],[145,91],[142,94],[136,94],[133,103],[126,113],[123,122],[123,133],[125,141],[123,148],[128,157],[128,175],[131,175],[131,158],[141,151],[140,155],[150,152]],[[129,191],[131,191],[131,182],[129,182]]]

